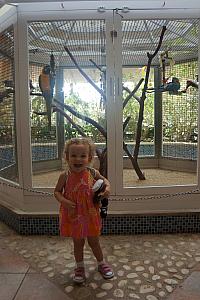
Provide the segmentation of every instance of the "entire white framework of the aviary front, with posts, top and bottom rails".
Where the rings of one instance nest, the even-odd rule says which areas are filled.
[[[110,212],[112,213],[163,213],[199,211],[199,193],[186,196],[159,198],[159,195],[187,192],[199,188],[199,159],[198,184],[193,186],[123,188],[122,172],[122,103],[121,103],[121,20],[114,18],[114,26],[118,32],[115,44],[111,43],[110,31],[113,23],[113,10],[120,9],[124,18],[199,18],[200,4],[197,1],[104,1],[100,12],[99,1],[65,1],[61,3],[19,4],[18,7],[3,7],[0,30],[14,24],[15,55],[16,55],[16,106],[17,106],[17,138],[20,186],[25,190],[14,190],[3,186],[0,191],[1,202],[9,204],[14,209],[24,213],[55,213],[58,211],[56,201],[52,196],[35,194],[28,191],[32,188],[32,163],[30,146],[29,104],[28,94],[28,48],[27,22],[37,20],[64,20],[93,18],[106,20],[106,52],[107,52],[107,98],[108,105],[108,175],[112,185]],[[47,10],[48,8],[48,10]],[[126,13],[123,9],[126,8]],[[128,8],[128,12],[127,12]],[[8,18],[9,16],[9,18]],[[114,55],[113,55],[114,54]],[[114,59],[117,57],[117,60]],[[199,74],[200,75],[200,74]],[[114,91],[116,95],[114,97]],[[199,121],[198,121],[199,123]],[[200,144],[200,143],[199,143]],[[199,147],[199,146],[198,146]],[[199,149],[200,150],[200,149]],[[200,153],[200,151],[199,151]],[[199,158],[198,153],[198,158]],[[1,179],[3,182],[8,182]],[[52,188],[39,190],[52,192]],[[158,198],[135,201],[138,196],[155,195]],[[167,200],[166,200],[167,199]]]

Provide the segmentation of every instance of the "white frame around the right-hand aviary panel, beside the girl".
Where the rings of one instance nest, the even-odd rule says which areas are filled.
[[[174,12],[155,12],[153,10],[147,10],[143,12],[129,10],[129,12],[123,13],[124,19],[177,19],[177,18],[197,18],[200,16],[199,12],[192,12],[188,14],[188,11],[175,10]],[[158,17],[159,16],[159,17]],[[115,18],[115,26],[117,30],[120,30],[120,22],[119,16]],[[121,63],[121,48],[120,41],[121,35],[118,34],[119,41],[116,42],[117,47],[115,48],[115,56],[117,57],[118,64]],[[115,80],[116,87],[115,90],[121,91],[121,87],[118,87],[118,83],[122,82],[122,73],[120,71],[119,65],[116,66],[117,78]],[[177,193],[187,193],[191,190],[199,189],[200,187],[200,176],[199,176],[199,154],[198,154],[198,165],[197,165],[197,173],[198,173],[198,183],[196,185],[174,185],[174,186],[145,186],[145,187],[123,187],[123,146],[122,146],[122,105],[121,105],[121,94],[115,95],[116,101],[116,132],[118,132],[118,138],[116,139],[116,173],[118,177],[116,178],[116,194],[113,197],[113,207],[117,210],[123,210],[126,212],[168,212],[168,211],[185,211],[187,209],[199,209],[199,193],[191,194],[188,196],[177,195],[173,196],[173,194]],[[198,118],[199,125],[199,118]],[[200,143],[199,143],[200,144]],[[198,144],[198,153],[199,152],[199,144]],[[172,196],[170,197],[170,195]],[[148,196],[155,195],[155,198],[147,199]],[[163,197],[162,197],[163,195]],[[165,195],[169,195],[169,197],[165,198]],[[142,197],[143,199],[136,200],[136,198]],[[118,201],[116,201],[116,199]],[[119,201],[119,200],[124,201]]]

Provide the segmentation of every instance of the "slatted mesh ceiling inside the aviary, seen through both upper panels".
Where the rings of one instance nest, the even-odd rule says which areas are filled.
[[[160,52],[169,50],[177,62],[198,57],[198,19],[122,20],[122,64],[143,66],[147,52],[158,45],[162,27],[166,26]],[[106,64],[106,24],[104,20],[37,21],[28,25],[29,60],[48,64],[54,54],[56,65],[74,67],[64,49],[67,46],[82,67]],[[159,64],[159,53],[152,65]]]

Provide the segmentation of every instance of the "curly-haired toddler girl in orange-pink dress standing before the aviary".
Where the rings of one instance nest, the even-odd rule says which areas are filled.
[[[103,259],[99,243],[101,233],[99,204],[93,203],[92,191],[95,181],[103,179],[106,188],[102,196],[108,197],[110,184],[99,171],[89,168],[94,152],[94,144],[87,138],[69,140],[64,150],[69,170],[61,173],[54,190],[54,196],[60,202],[60,234],[73,239],[76,261],[73,280],[76,283],[85,281],[83,248],[86,238],[97,259],[98,271],[105,279],[114,276],[112,269]]]

